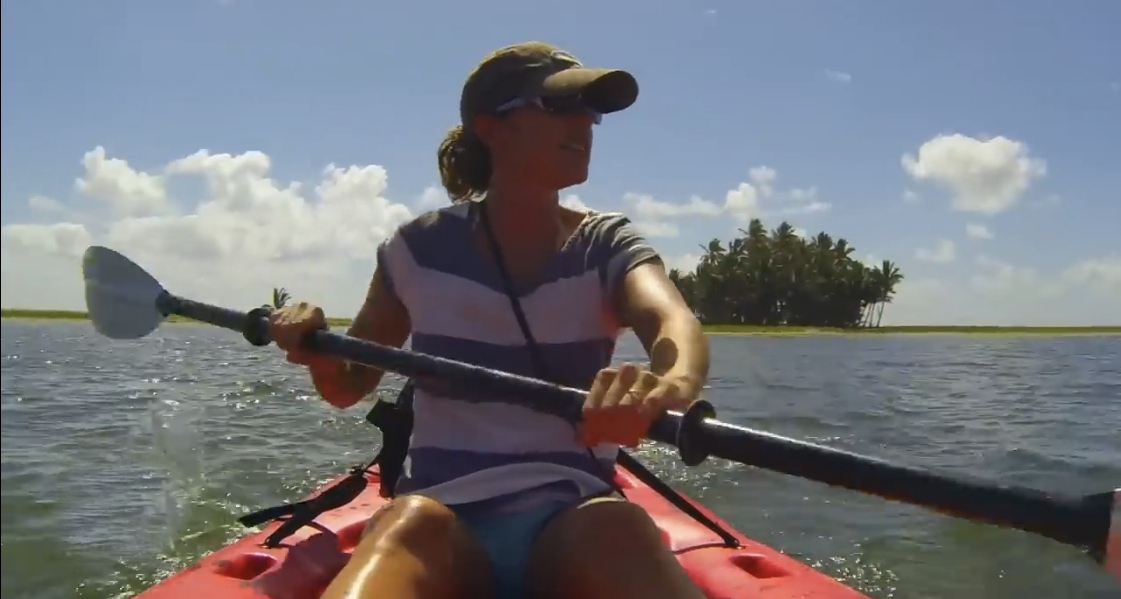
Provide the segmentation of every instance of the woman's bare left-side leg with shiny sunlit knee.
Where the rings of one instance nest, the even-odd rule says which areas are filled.
[[[395,499],[367,526],[322,599],[474,599],[492,593],[490,563],[455,514],[426,497]]]

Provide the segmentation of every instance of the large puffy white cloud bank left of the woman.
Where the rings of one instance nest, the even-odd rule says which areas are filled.
[[[377,243],[413,216],[386,199],[386,171],[376,165],[328,165],[311,188],[272,179],[269,157],[259,151],[200,150],[145,173],[99,147],[83,166],[76,190],[109,214],[92,210],[102,215],[4,225],[4,306],[82,307],[80,255],[101,243],[185,296],[249,307],[266,302],[272,286],[285,286],[349,315],[364,296]],[[177,177],[204,181],[206,197],[197,205],[173,197],[167,183]],[[73,293],[54,295],[71,283],[45,287],[35,280],[59,268],[55,278],[73,274]]]

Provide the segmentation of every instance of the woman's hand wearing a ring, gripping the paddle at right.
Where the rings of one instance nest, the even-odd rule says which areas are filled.
[[[636,448],[655,418],[666,409],[684,409],[698,393],[697,385],[658,376],[641,366],[604,368],[584,399],[577,439],[585,448],[600,443]]]

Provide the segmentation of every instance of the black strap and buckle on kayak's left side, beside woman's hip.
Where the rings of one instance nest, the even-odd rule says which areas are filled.
[[[245,514],[238,518],[238,522],[251,528],[267,522],[287,518],[265,540],[265,546],[276,547],[296,531],[315,522],[315,518],[323,513],[343,507],[358,498],[368,485],[365,472],[374,466],[379,467],[381,473],[381,496],[392,497],[405,466],[409,435],[413,434],[413,383],[406,383],[397,402],[390,403],[379,398],[373,409],[365,415],[365,420],[381,430],[381,449],[373,460],[352,468],[346,477],[311,499],[267,507]]]

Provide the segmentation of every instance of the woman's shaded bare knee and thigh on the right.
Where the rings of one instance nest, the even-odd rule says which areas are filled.
[[[529,589],[534,599],[704,599],[646,510],[618,497],[568,508],[541,529]]]

